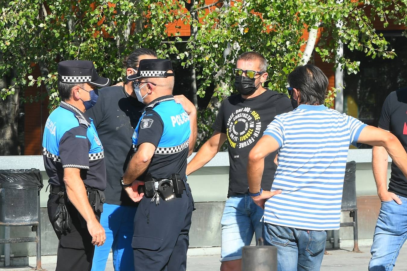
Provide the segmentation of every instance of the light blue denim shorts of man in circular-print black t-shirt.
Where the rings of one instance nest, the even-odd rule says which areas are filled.
[[[230,196],[222,215],[221,262],[242,258],[242,248],[250,245],[253,234],[261,237],[263,209],[248,194]]]

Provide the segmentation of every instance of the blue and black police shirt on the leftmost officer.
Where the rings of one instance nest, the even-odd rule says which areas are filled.
[[[61,102],[48,117],[42,152],[48,182],[64,186],[63,169],[81,169],[85,186],[105,190],[106,167],[103,146],[92,120],[76,107]]]

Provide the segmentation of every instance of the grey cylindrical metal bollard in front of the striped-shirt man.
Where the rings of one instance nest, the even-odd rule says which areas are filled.
[[[277,247],[259,243],[243,247],[242,271],[277,271]]]

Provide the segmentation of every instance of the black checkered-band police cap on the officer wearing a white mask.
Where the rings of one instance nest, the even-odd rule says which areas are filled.
[[[172,73],[168,73],[168,71]],[[137,80],[142,77],[174,76],[173,64],[169,59],[142,59],[136,74],[127,76],[127,80]]]

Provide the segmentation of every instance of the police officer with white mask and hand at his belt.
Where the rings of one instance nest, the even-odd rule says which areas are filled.
[[[141,60],[137,74],[127,78],[139,80],[134,91],[147,105],[133,135],[136,153],[120,180],[134,201],[142,198],[134,219],[135,270],[186,270],[194,206],[185,174],[188,114],[172,95],[171,61]]]

